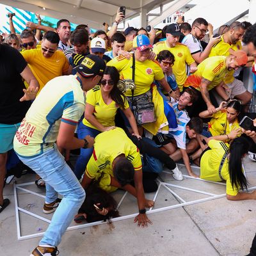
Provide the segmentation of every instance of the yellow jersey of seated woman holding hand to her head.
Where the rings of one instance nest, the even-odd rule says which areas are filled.
[[[232,124],[229,124],[227,120],[227,110],[225,109],[212,115],[208,127],[212,136],[229,134],[231,131],[241,128],[237,119]]]

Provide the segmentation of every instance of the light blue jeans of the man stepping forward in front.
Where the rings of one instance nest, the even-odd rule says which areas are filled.
[[[41,245],[58,246],[61,236],[84,202],[84,189],[56,148],[51,148],[40,156],[31,158],[19,156],[19,158],[45,180],[45,202],[54,202],[58,193],[63,196],[60,205],[52,216],[51,224],[40,241]]]

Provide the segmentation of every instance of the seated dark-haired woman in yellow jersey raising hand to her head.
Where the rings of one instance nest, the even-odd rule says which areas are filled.
[[[213,136],[215,140],[230,141],[241,135],[241,127],[237,120],[237,116],[241,112],[242,105],[238,100],[230,100],[221,102],[216,113],[210,115],[208,110],[199,114],[201,118],[212,117],[208,123],[208,132],[203,134],[208,138]],[[225,106],[225,107],[224,107]]]

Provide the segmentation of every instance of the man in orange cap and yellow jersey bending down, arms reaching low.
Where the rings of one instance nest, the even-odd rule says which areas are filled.
[[[207,58],[198,65],[198,69],[194,74],[189,76],[184,84],[184,87],[190,87],[198,93],[198,100],[193,104],[193,107],[188,109],[189,116],[197,116],[200,111],[207,110],[212,115],[216,112],[209,96],[209,90],[216,88],[216,92],[223,97],[224,100],[229,100],[225,94],[224,88],[221,86],[223,78],[230,70],[235,70],[246,64],[248,58],[244,51],[233,51],[229,56],[215,56]]]

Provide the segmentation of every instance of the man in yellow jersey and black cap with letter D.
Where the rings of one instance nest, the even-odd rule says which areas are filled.
[[[186,64],[189,65],[190,72],[195,72],[196,62],[192,58],[188,47],[179,43],[180,35],[182,35],[182,33],[180,32],[179,24],[170,24],[166,28],[166,40],[155,44],[153,51],[156,54],[159,54],[159,52],[164,50],[172,52],[175,58],[175,63],[172,70],[180,92],[182,92],[184,83],[187,78]]]

